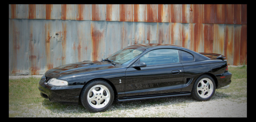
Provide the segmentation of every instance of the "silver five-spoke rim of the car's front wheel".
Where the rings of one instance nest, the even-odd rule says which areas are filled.
[[[100,109],[108,105],[110,92],[104,85],[94,85],[87,94],[87,101],[93,108]]]

